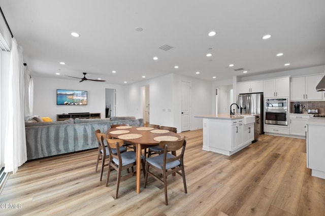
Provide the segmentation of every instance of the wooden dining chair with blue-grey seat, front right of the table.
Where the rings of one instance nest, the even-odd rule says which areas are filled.
[[[184,152],[186,146],[186,138],[183,137],[177,141],[160,141],[159,146],[164,149],[163,154],[156,157],[146,158],[146,176],[144,182],[144,188],[147,186],[148,174],[152,175],[155,179],[164,184],[165,190],[165,204],[168,205],[167,198],[167,175],[172,173],[178,173],[183,177],[184,192],[187,194],[185,171],[184,171]],[[177,151],[182,149],[181,154],[174,156],[169,151]],[[151,172],[149,168],[152,167],[155,172]],[[163,175],[163,179],[160,175],[157,175],[156,171]],[[180,172],[181,171],[181,172]]]

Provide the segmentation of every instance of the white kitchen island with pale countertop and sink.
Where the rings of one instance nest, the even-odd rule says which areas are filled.
[[[249,146],[254,139],[253,115],[204,115],[203,150],[233,155]]]

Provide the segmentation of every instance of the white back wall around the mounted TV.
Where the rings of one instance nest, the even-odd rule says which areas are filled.
[[[116,116],[126,116],[124,87],[93,81],[53,79],[33,77],[34,79],[34,115],[50,117],[56,121],[57,114],[63,113],[101,113],[105,118],[105,89],[116,89]],[[56,89],[88,91],[87,105],[56,105]]]

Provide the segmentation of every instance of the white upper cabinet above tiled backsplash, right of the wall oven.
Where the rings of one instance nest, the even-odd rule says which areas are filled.
[[[316,91],[316,85],[322,75],[294,77],[290,80],[290,100],[321,100],[322,92]]]

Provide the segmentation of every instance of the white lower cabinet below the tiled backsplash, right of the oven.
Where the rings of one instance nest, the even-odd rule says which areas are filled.
[[[290,134],[306,136],[306,123],[311,115],[290,114]]]

